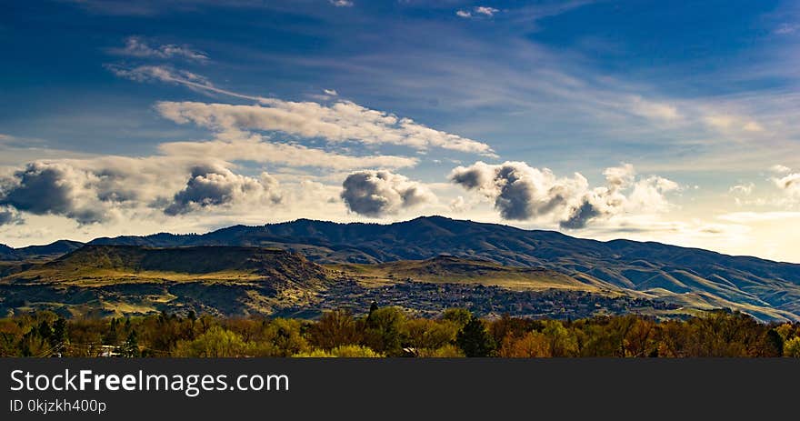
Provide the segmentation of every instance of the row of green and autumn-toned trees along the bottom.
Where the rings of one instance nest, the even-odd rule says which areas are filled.
[[[0,356],[800,357],[800,323],[764,324],[724,310],[566,321],[481,319],[463,308],[418,318],[375,305],[366,316],[336,310],[315,321],[193,312],[65,319],[42,311],[0,319]]]

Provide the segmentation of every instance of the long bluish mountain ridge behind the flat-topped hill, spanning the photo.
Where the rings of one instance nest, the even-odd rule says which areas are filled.
[[[265,226],[230,226],[202,235],[104,237],[86,246],[95,247],[95,251],[98,246],[260,247],[303,256],[309,263],[339,271],[343,276],[371,272],[379,274],[376,277],[425,282],[498,279],[496,273],[480,274],[505,270],[501,268],[513,268],[502,272],[501,278],[521,279],[532,273],[525,270],[535,269],[557,279],[555,286],[570,289],[623,294],[687,309],[730,308],[762,320],[800,320],[800,265],[652,242],[601,242],[553,231],[441,216],[418,217],[390,225],[299,219]],[[8,269],[13,266],[8,262],[57,260],[61,257],[56,256],[69,256],[86,246],[71,241],[19,249],[0,246],[0,259],[6,262],[6,268],[0,266],[0,271],[5,270],[6,278],[14,276],[10,274],[31,267]],[[442,266],[441,256],[461,259],[466,266]],[[435,260],[437,257],[439,261]],[[432,268],[434,263],[429,263],[422,269],[413,269],[422,261],[434,262],[438,267]],[[393,268],[393,262],[417,263],[395,264],[397,267]]]

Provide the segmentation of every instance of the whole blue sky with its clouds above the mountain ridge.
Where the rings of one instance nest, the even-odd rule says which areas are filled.
[[[438,214],[800,262],[798,18],[786,1],[13,2],[0,243]]]

